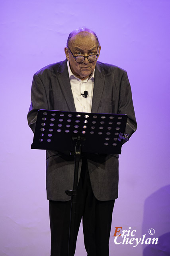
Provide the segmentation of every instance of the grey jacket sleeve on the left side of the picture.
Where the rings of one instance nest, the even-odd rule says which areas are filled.
[[[28,125],[35,132],[37,112],[39,109],[49,109],[45,86],[38,74],[34,74],[31,87],[31,105],[27,114]]]

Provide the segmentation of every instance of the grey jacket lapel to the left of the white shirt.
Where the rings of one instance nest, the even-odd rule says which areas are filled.
[[[72,90],[70,86],[70,79],[68,75],[67,60],[64,60],[58,69],[57,79],[63,91],[68,108],[72,112],[76,112]]]

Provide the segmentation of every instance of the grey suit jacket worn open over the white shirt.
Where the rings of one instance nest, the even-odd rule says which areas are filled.
[[[74,111],[67,60],[42,68],[33,76],[28,124],[35,130],[39,109]],[[137,129],[131,87],[125,70],[102,62],[96,63],[92,113],[127,114],[125,133]],[[47,150],[47,199],[67,201],[65,190],[72,190],[74,158],[65,152]],[[79,176],[80,177],[79,168]],[[118,155],[88,154],[88,169],[94,196],[113,200],[118,196]]]

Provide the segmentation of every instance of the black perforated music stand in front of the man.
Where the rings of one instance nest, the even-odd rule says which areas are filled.
[[[123,135],[126,122],[125,114],[38,111],[31,148],[67,151],[74,154],[73,190],[65,190],[66,194],[71,196],[68,256],[72,256],[74,250],[76,192],[81,152],[121,154],[122,140],[129,140],[129,134]]]

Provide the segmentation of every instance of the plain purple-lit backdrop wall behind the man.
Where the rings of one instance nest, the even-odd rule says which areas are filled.
[[[45,151],[30,149],[26,116],[33,74],[65,58],[80,26],[98,35],[100,61],[127,70],[138,122],[120,156],[110,255],[170,255],[169,10],[169,0],[0,1],[1,256],[50,255]],[[158,244],[115,244],[115,227]],[[86,255],[82,227],[75,255]]]

